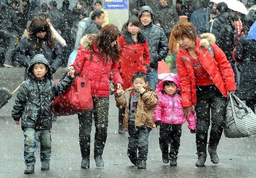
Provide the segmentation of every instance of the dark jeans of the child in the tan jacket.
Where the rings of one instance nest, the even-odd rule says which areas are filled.
[[[138,149],[138,159],[147,160],[148,158],[148,135],[150,130],[135,127],[133,124],[129,122],[129,142],[128,142],[128,150],[127,155],[129,158],[137,157],[137,149]]]

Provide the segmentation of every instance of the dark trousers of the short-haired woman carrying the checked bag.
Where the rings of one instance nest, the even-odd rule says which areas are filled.
[[[206,152],[208,129],[210,126],[210,109],[212,127],[209,143],[215,142],[218,145],[223,131],[227,98],[222,96],[215,85],[196,86],[196,92],[196,146],[198,152]]]

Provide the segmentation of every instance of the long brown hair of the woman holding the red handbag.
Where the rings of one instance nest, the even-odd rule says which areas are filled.
[[[112,47],[111,43],[113,41],[116,41],[119,35],[120,31],[115,25],[109,23],[106,26],[104,26],[100,30],[99,34],[93,37],[92,43],[90,44],[92,55],[90,56],[89,62],[91,62],[93,58],[93,45],[95,43],[97,44],[97,42],[99,43],[99,53],[97,55],[99,55],[99,57],[103,59],[103,63],[105,65],[108,63],[108,59],[110,59],[113,63],[118,62],[120,60],[118,44],[116,43]]]

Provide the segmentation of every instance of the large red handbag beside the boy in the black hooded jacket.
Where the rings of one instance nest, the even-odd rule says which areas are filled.
[[[64,93],[53,100],[54,116],[74,115],[93,109],[90,80],[87,77],[76,77]]]

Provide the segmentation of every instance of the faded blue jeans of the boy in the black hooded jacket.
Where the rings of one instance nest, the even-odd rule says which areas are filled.
[[[51,157],[51,131],[50,129],[35,130],[33,128],[25,127],[23,130],[24,140],[24,158],[26,166],[35,164],[34,152],[37,150],[38,141],[36,133],[40,141],[40,158],[41,163],[49,163]]]

